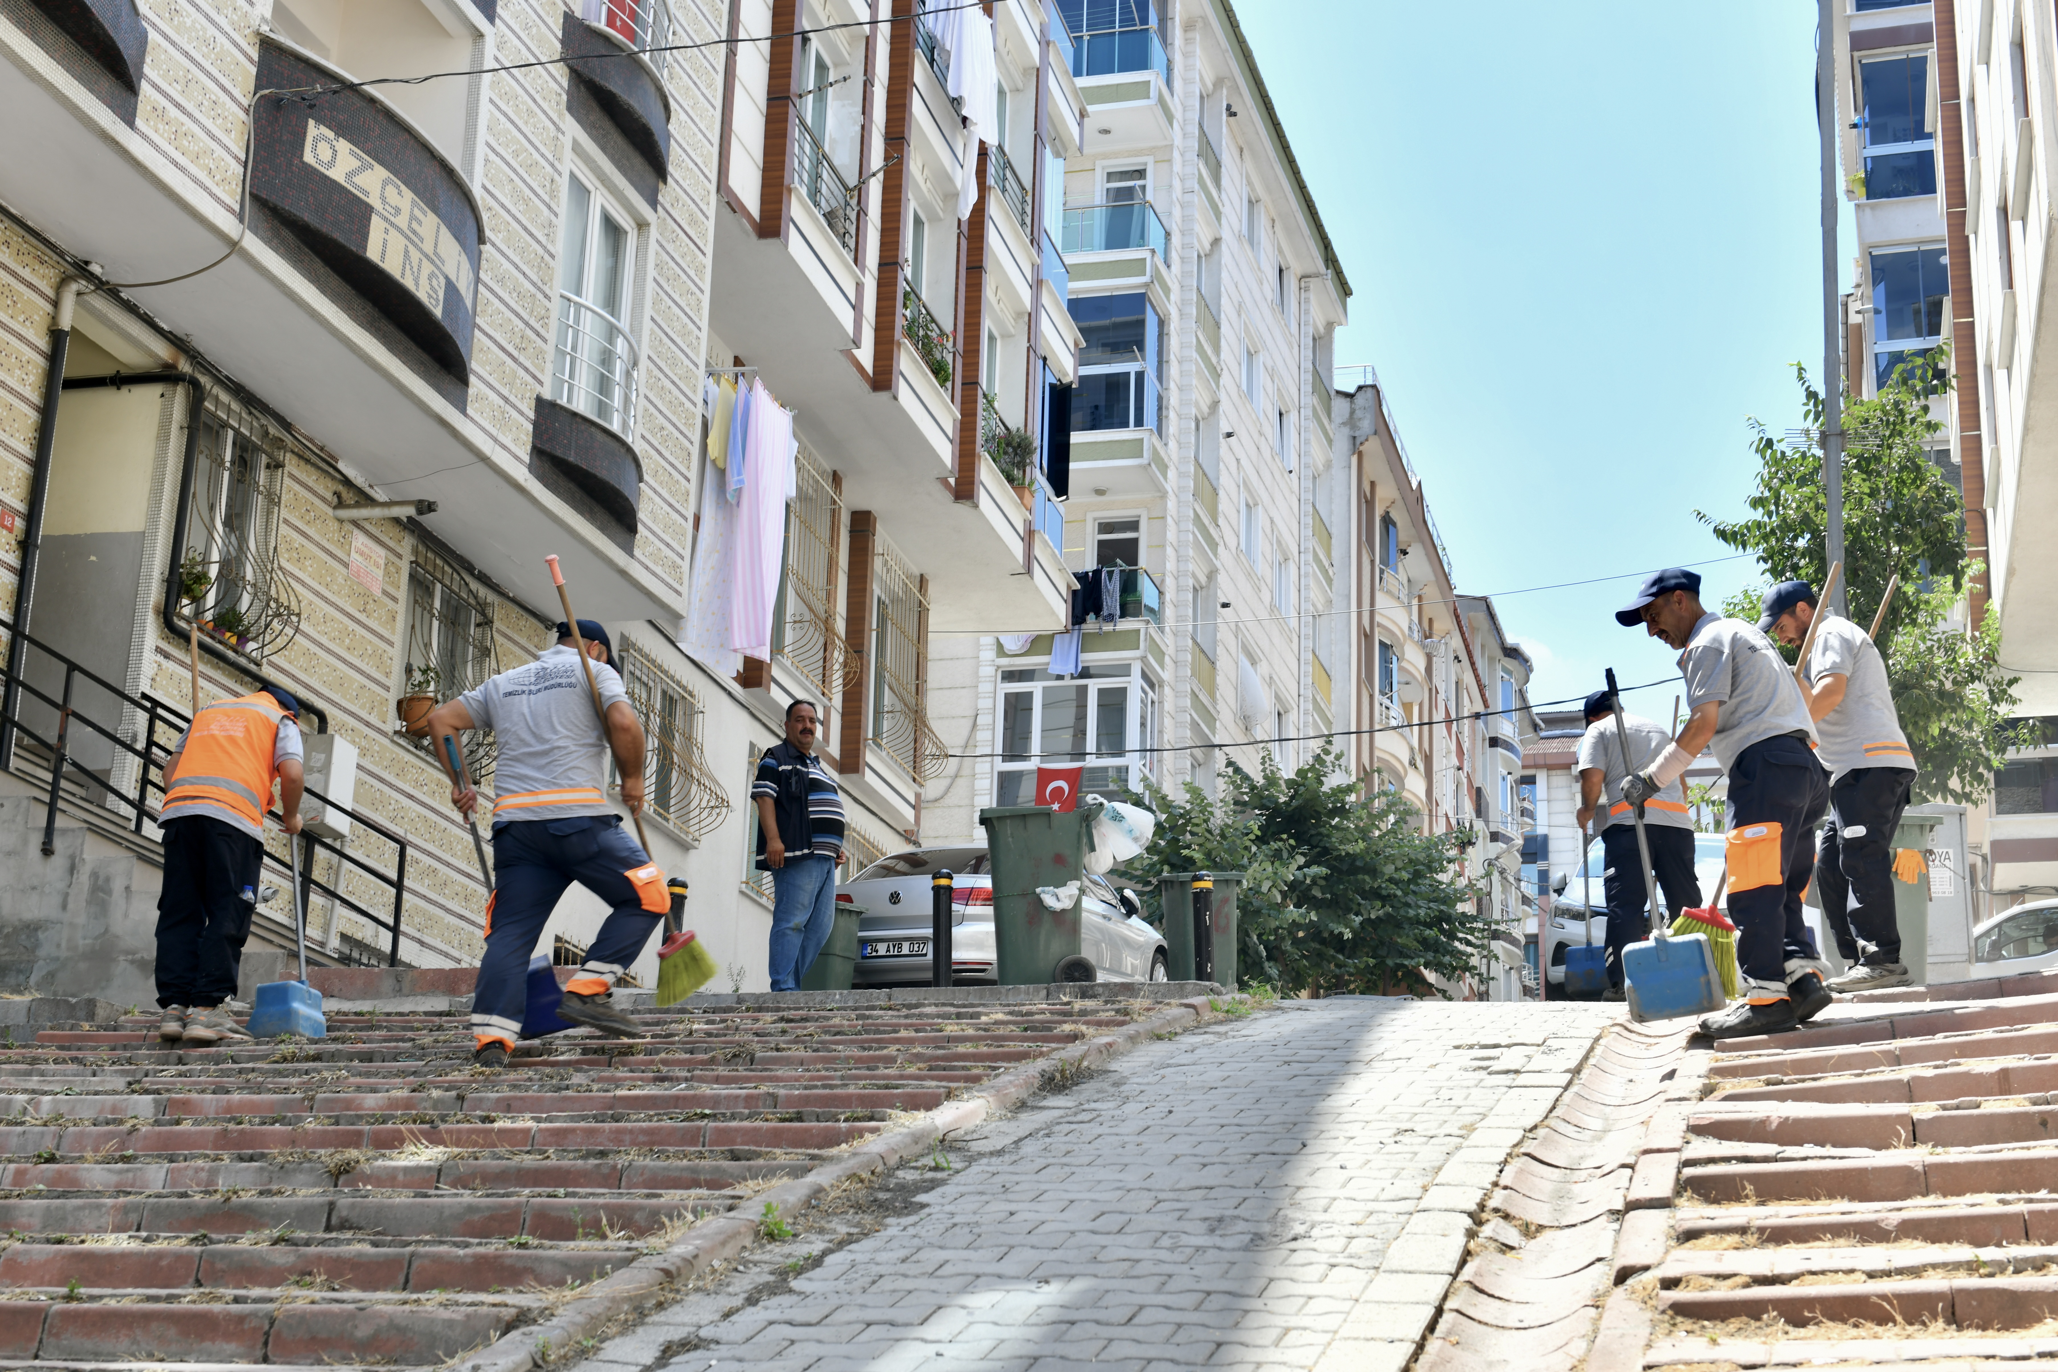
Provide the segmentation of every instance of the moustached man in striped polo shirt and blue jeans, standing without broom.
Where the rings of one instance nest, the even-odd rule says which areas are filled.
[[[757,759],[757,870],[772,872],[772,989],[799,991],[836,928],[844,796],[815,757],[815,706],[786,706],[786,743]]]

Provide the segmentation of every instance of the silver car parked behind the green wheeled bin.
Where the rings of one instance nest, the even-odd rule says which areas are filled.
[[[914,847],[871,864],[838,887],[836,899],[858,905],[858,963],[852,985],[930,985],[934,934],[930,878],[951,872],[951,971],[959,985],[998,981],[994,952],[994,878],[984,847]],[[1165,981],[1165,938],[1144,924],[1142,907],[1103,876],[1080,887],[1080,952],[1091,981]]]

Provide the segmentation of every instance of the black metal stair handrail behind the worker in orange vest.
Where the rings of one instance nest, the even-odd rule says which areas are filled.
[[[6,631],[12,634],[14,631],[14,621],[8,619],[6,615],[0,615],[0,629],[6,629]],[[93,669],[80,666],[72,658],[64,656],[62,652],[58,652],[49,644],[43,644],[43,642],[39,642],[37,638],[29,636],[29,634],[21,634],[19,638],[21,638],[21,644],[25,648],[33,648],[35,652],[41,652],[54,664],[58,664],[58,666],[64,669],[64,685],[60,687],[60,693],[58,695],[49,695],[47,691],[43,691],[39,685],[35,685],[29,679],[27,662],[23,664],[21,673],[14,673],[12,669],[0,664],[0,681],[4,681],[10,687],[6,691],[6,695],[4,695],[4,699],[8,701],[8,708],[6,708],[6,714],[0,714],[0,730],[8,732],[10,736],[19,734],[23,738],[29,738],[31,743],[47,749],[47,753],[49,753],[49,792],[45,796],[45,810],[43,810],[43,856],[47,858],[47,856],[54,856],[58,852],[58,804],[64,798],[66,771],[74,773],[72,780],[76,784],[80,784],[84,788],[103,790],[107,794],[109,802],[115,802],[121,808],[130,810],[130,823],[128,823],[130,831],[134,835],[138,835],[138,837],[148,837],[148,835],[144,835],[144,823],[146,821],[150,825],[161,825],[163,823],[163,798],[169,796],[169,790],[167,790],[167,786],[163,782],[163,773],[165,773],[165,767],[171,763],[171,755],[173,755],[173,749],[169,745],[158,743],[158,726],[163,724],[163,726],[175,728],[177,732],[183,732],[183,730],[187,730],[191,726],[191,718],[185,716],[185,714],[181,714],[181,712],[177,712],[177,710],[173,710],[171,706],[165,706],[165,703],[148,697],[148,695],[142,695],[142,697],[130,695],[126,689],[121,689],[115,683],[107,681],[105,677],[101,677]],[[82,712],[74,703],[80,679],[88,681],[95,689],[105,691],[107,695],[113,695],[121,703],[121,714],[126,716],[123,724],[130,724],[134,720],[134,716],[142,716],[140,720],[134,720],[134,724],[140,724],[140,730],[142,730],[142,747],[138,747],[136,743],[130,743],[130,738],[123,736],[123,724],[115,724],[113,728],[109,728],[107,724],[101,724],[99,720],[95,720],[91,714]],[[56,732],[49,738],[45,738],[37,728],[33,728],[29,722],[25,722],[21,718],[23,716],[23,706],[27,703],[25,697],[33,697],[35,701],[39,701],[41,706],[45,706],[45,708],[49,708],[49,710],[54,710],[58,714],[58,726],[56,726]],[[121,755],[126,755],[132,765],[136,765],[136,790],[134,790],[134,798],[128,794],[128,788],[115,790],[111,786],[113,769],[109,769],[109,778],[103,780],[99,773],[88,771],[86,767],[82,767],[76,761],[76,757],[72,755],[72,728],[74,726],[82,726],[82,728],[91,730],[93,734],[97,734],[99,738],[103,738],[107,745],[111,745],[113,749],[117,749]],[[173,734],[173,738],[177,738],[177,732]],[[19,767],[19,753],[16,753],[16,767]],[[156,771],[154,780],[152,780],[152,769]],[[158,804],[156,806],[150,804],[150,794],[152,792],[156,792],[156,796],[158,796]],[[300,843],[303,843],[303,862],[300,862],[300,893],[303,893],[303,897],[300,897],[300,907],[303,909],[307,907],[307,903],[309,903],[309,899],[311,899],[311,895],[315,891],[321,891],[323,895],[329,895],[340,905],[348,905],[350,911],[356,913],[358,917],[362,917],[366,924],[370,924],[372,928],[379,928],[379,930],[387,930],[391,934],[391,948],[389,948],[387,956],[389,956],[389,963],[393,967],[397,967],[399,965],[401,915],[405,911],[405,897],[407,897],[407,839],[403,839],[393,829],[387,829],[379,821],[368,819],[368,817],[352,810],[350,806],[331,800],[329,796],[321,794],[313,786],[307,786],[305,794],[311,800],[319,800],[323,806],[327,806],[329,810],[333,810],[338,815],[348,815],[352,827],[362,825],[364,829],[368,829],[368,831],[377,833],[379,837],[383,837],[385,841],[393,843],[395,862],[393,862],[393,876],[387,876],[385,872],[381,872],[379,868],[370,866],[368,862],[364,862],[356,854],[348,852],[344,845],[331,843],[329,839],[321,837],[319,833],[315,833],[311,829],[303,829],[300,831]],[[272,813],[268,817],[276,817],[276,813]],[[327,884],[323,880],[317,880],[313,868],[315,868],[315,856],[319,852],[335,854],[338,864],[350,864],[352,868],[364,872],[372,880],[377,880],[377,882],[381,882],[385,887],[391,887],[393,889],[393,915],[391,915],[391,919],[383,919],[383,917],[375,915],[370,909],[366,909],[364,905],[360,905],[356,899],[344,895],[342,891],[333,889],[331,884]],[[280,858],[272,856],[270,852],[265,854],[265,860],[278,864],[284,870],[284,862],[280,862]],[[342,866],[338,870],[342,870]],[[340,876],[338,876],[338,880],[340,880]]]

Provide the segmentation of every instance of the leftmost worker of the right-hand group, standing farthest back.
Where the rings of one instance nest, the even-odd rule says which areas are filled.
[[[1628,747],[1616,745],[1613,697],[1595,691],[1587,697],[1587,732],[1578,741],[1578,827],[1585,829],[1601,810],[1601,856],[1605,860],[1601,891],[1607,897],[1607,991],[1601,1000],[1622,1000],[1622,950],[1648,936],[1646,887],[1642,854],[1636,847],[1634,815],[1622,798],[1630,767],[1624,753],[1648,767],[1671,743],[1671,734],[1655,720],[1622,716]],[[1651,841],[1651,866],[1657,868],[1665,903],[1679,911],[1700,905],[1700,878],[1694,874],[1694,821],[1686,808],[1686,792],[1673,778],[1644,802],[1644,831]]]

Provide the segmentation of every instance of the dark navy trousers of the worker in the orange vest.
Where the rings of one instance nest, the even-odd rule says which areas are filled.
[[[187,815],[165,825],[165,889],[156,897],[158,1006],[212,1010],[237,994],[261,868],[263,843],[230,823]]]

